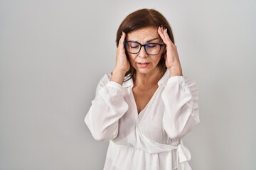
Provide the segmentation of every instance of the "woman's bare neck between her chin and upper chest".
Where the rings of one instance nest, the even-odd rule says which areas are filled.
[[[149,87],[157,85],[163,75],[164,72],[161,72],[160,69],[156,69],[154,72],[148,74],[136,72],[133,78],[134,86],[138,86],[140,89],[148,89]]]

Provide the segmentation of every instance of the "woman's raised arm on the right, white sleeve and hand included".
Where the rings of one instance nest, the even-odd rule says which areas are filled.
[[[158,33],[166,44],[166,67],[170,78],[163,91],[165,105],[164,129],[172,139],[181,139],[199,123],[198,86],[182,76],[176,45],[170,40],[167,29],[159,27]]]

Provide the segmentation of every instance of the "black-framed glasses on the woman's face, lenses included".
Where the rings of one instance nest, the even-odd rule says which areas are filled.
[[[142,47],[144,47],[146,54],[148,55],[158,55],[161,47],[164,46],[164,43],[147,43],[142,45],[139,42],[136,41],[124,41],[124,47],[127,52],[131,54],[137,54],[142,50]]]

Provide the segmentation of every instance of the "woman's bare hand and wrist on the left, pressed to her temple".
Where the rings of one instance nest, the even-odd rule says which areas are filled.
[[[130,63],[129,63],[129,60],[127,60],[127,56],[125,54],[125,49],[124,49],[125,36],[126,36],[125,33],[122,32],[122,36],[119,40],[119,44],[117,47],[116,64],[112,72],[112,78],[111,78],[111,81],[115,81],[121,85],[124,80],[125,73],[128,72],[130,68]]]

